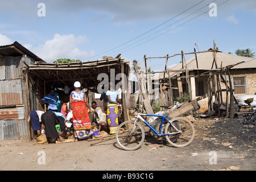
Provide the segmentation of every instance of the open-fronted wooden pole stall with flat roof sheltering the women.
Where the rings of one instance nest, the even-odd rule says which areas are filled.
[[[26,78],[26,88],[28,90],[26,93],[27,102],[30,103],[31,101],[29,90],[34,90],[35,96],[37,97],[37,104],[34,104],[33,108],[29,105],[29,113],[31,110],[44,109],[41,99],[48,94],[50,86],[54,86],[54,88],[64,88],[64,86],[67,85],[72,90],[74,82],[79,81],[81,82],[82,89],[86,88],[90,90],[90,92],[98,93],[97,86],[102,81],[98,80],[99,74],[105,73],[110,79],[110,73],[114,73],[114,78],[118,73],[122,73],[121,79],[115,81],[122,81],[122,85],[125,85],[127,83],[125,79],[128,78],[130,72],[129,62],[124,61],[121,57],[74,63],[55,64],[39,61],[32,65],[24,64],[22,74]],[[126,86],[127,85],[123,86],[122,98],[126,98],[124,92]],[[92,100],[90,100],[90,102],[91,101]],[[128,114],[125,99],[122,100],[122,109],[123,117],[126,121],[128,120]]]

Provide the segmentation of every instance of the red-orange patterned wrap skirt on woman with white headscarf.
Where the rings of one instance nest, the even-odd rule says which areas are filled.
[[[75,138],[84,139],[93,135],[91,122],[85,102],[72,102]]]

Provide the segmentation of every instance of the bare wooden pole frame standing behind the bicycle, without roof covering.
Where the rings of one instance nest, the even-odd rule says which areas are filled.
[[[197,101],[202,100],[203,98],[208,97],[208,111],[209,113],[214,109],[213,108],[213,97],[215,97],[215,101],[218,101],[218,116],[221,117],[221,105],[225,104],[226,106],[226,112],[225,115],[226,117],[230,117],[233,118],[234,114],[235,114],[235,110],[234,110],[234,101],[237,102],[235,100],[234,94],[233,94],[233,85],[231,81],[227,81],[227,76],[229,77],[230,80],[230,69],[233,68],[235,65],[238,64],[242,64],[244,63],[244,61],[241,61],[238,64],[233,64],[233,65],[228,65],[226,67],[222,67],[222,63],[221,63],[221,67],[218,67],[217,64],[217,51],[218,48],[216,47],[216,43],[214,40],[214,48],[213,49],[209,49],[207,51],[198,51],[196,52],[194,49],[194,52],[190,52],[190,53],[185,53],[183,51],[181,51],[181,53],[177,53],[175,55],[169,56],[162,56],[162,57],[146,57],[146,55],[143,57],[143,67],[142,67],[142,71],[139,73],[138,69],[137,69],[137,63],[134,62],[134,68],[135,68],[135,74],[137,75],[137,77],[140,79],[139,80],[139,86],[143,86],[144,85],[144,89],[146,90],[147,86],[149,84],[149,77],[147,76],[148,74],[152,74],[152,73],[163,73],[163,78],[161,78],[159,80],[159,91],[161,94],[161,105],[164,105],[164,103],[166,103],[166,105],[173,105],[174,103],[174,98],[173,98],[173,88],[172,88],[172,81],[171,80],[177,80],[178,83],[178,92],[179,92],[179,96],[182,97],[183,96],[183,90],[182,90],[182,79],[186,78],[186,84],[188,86],[188,91],[189,91],[189,97],[190,100],[193,100],[194,98],[192,97],[192,93],[191,93],[191,83],[190,83],[190,78],[199,78],[201,76],[207,76],[208,75],[208,93],[198,97]],[[198,67],[198,60],[197,60],[197,54],[198,53],[206,53],[206,52],[212,52],[213,53],[213,63],[211,65],[211,69],[209,71],[206,70],[201,70]],[[197,69],[188,69],[187,68],[187,63],[186,63],[186,58],[185,55],[195,55],[195,60],[197,63]],[[174,69],[167,69],[167,63],[168,63],[168,59],[170,57],[174,57],[174,56],[182,56],[182,69],[178,69],[178,70],[174,70]],[[159,71],[159,72],[147,72],[147,59],[165,59],[165,70],[164,71]],[[144,67],[146,68],[146,71],[144,72]],[[192,74],[191,73],[196,73],[196,74]],[[141,77],[143,77],[143,75],[145,76],[145,80],[141,79]],[[223,77],[225,76],[225,77]],[[168,100],[165,102],[163,101],[163,96],[162,96],[162,84],[166,82],[167,85],[169,85],[168,91],[167,91],[167,96],[168,96]],[[221,84],[224,84],[226,86],[225,89],[222,89]],[[140,90],[142,91],[142,90]],[[223,97],[222,97],[222,92],[226,92],[226,101],[223,101]],[[229,97],[228,97],[229,96]],[[143,97],[143,99],[145,99],[145,94],[140,94],[140,97]],[[145,104],[145,109],[147,110],[147,113],[152,112],[152,104],[146,104],[146,103],[150,103],[150,101],[148,101],[148,98],[146,98],[146,101],[144,101]],[[148,112],[149,110],[149,112]]]

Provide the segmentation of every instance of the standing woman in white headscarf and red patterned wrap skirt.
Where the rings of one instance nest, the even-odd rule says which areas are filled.
[[[93,111],[91,110],[91,107],[87,102],[85,92],[83,92],[80,87],[80,82],[76,81],[74,83],[75,90],[71,92],[69,96],[69,111],[70,109],[73,110],[75,142],[77,142],[78,139],[84,139],[90,136],[93,137],[93,129],[91,128],[91,122],[89,119],[87,107],[92,114]]]

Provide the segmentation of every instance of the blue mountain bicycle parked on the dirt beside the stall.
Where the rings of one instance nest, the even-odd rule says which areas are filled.
[[[161,107],[168,108],[169,106]],[[145,140],[145,129],[141,123],[139,123],[140,121],[145,123],[146,126],[149,127],[150,130],[153,131],[153,133],[158,137],[165,137],[167,142],[174,147],[186,147],[195,137],[194,126],[186,118],[177,117],[169,120],[165,114],[142,114],[141,110],[139,110],[137,107],[132,108],[138,111],[137,117],[134,121],[125,121],[121,123],[121,125],[119,125],[117,128],[117,133],[115,134],[115,139],[123,150],[137,150],[142,146],[142,143]],[[142,116],[161,117],[161,125],[158,129],[154,129],[154,127],[151,126],[150,123],[146,122]],[[166,125],[164,126],[163,123],[166,123]]]

